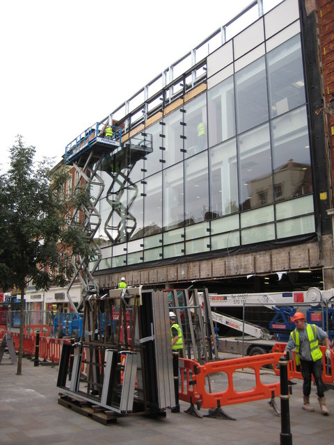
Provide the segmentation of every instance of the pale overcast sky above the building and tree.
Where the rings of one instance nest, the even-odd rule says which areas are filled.
[[[35,146],[36,159],[61,161],[81,131],[249,3],[1,1],[1,172],[17,134]]]

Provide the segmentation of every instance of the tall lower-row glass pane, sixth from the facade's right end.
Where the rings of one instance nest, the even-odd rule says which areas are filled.
[[[162,230],[162,175],[156,173],[146,179],[144,186],[144,236]]]

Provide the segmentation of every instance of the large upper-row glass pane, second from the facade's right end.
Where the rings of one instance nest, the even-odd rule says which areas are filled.
[[[235,74],[238,133],[268,120],[266,75],[264,57]]]

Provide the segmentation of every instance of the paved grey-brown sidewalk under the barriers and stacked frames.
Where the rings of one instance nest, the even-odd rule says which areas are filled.
[[[23,359],[22,375],[17,365],[10,364],[5,353],[0,364],[0,444],[8,445],[279,445],[280,417],[267,400],[223,407],[235,421],[210,419],[185,414],[189,405],[181,403],[180,414],[167,410],[166,418],[124,416],[117,423],[104,426],[58,404],[56,380],[58,367],[33,366]],[[234,373],[234,388],[252,389],[254,375]],[[276,382],[278,377],[264,369],[261,380]],[[218,390],[223,378],[213,378],[212,388]],[[242,388],[241,388],[242,387]],[[224,388],[220,388],[223,390]],[[333,445],[334,391],[326,391],[331,416],[320,413],[315,387],[311,401],[315,412],[301,410],[301,381],[296,380],[289,399],[290,425],[294,445]],[[276,399],[280,408],[280,399]],[[207,414],[208,410],[200,410]]]

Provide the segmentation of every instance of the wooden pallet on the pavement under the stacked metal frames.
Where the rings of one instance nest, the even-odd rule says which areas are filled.
[[[90,417],[90,419],[103,423],[104,425],[111,425],[111,423],[117,422],[118,414],[116,412],[106,410],[106,408],[100,405],[95,405],[94,403],[69,396],[68,394],[59,393],[59,396],[59,405],[63,405],[83,416]]]

